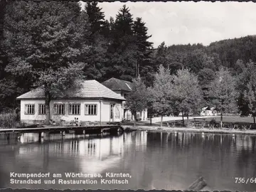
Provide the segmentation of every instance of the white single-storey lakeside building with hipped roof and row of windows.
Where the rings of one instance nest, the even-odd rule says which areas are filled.
[[[43,88],[17,97],[21,100],[21,122],[35,123],[46,119]],[[122,121],[124,97],[96,80],[85,80],[78,88],[71,87],[50,101],[50,119],[91,122]]]

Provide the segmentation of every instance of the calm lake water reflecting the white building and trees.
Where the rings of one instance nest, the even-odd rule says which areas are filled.
[[[166,189],[184,190],[203,176],[212,190],[255,191],[256,183],[235,183],[235,178],[256,178],[256,137],[230,134],[132,132],[119,135],[76,136],[23,134],[7,141],[0,136],[0,188]],[[10,172],[38,174],[41,184],[10,183]],[[101,174],[97,184],[63,184],[65,173]],[[129,183],[105,184],[106,173],[129,174]],[[62,178],[53,178],[62,174]],[[21,179],[21,178],[16,178]],[[26,178],[22,178],[25,179]],[[44,183],[44,180],[55,183]],[[72,178],[85,180],[88,178]],[[88,181],[89,182],[89,181]]]

